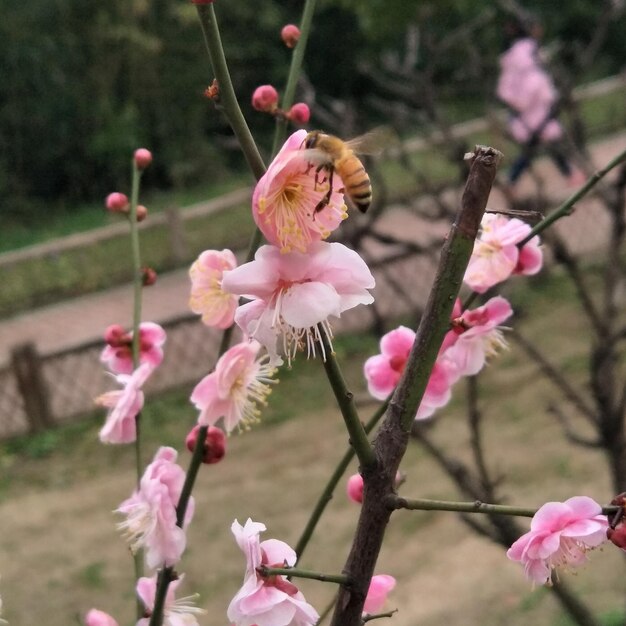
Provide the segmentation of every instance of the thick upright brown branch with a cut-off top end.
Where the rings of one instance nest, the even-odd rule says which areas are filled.
[[[406,452],[409,431],[426,389],[478,233],[500,153],[477,146],[461,210],[441,253],[435,282],[420,321],[404,375],[374,443],[376,462],[361,467],[364,499],[343,572],[352,585],[340,586],[332,626],[360,626],[363,604],[391,511],[387,498]]]

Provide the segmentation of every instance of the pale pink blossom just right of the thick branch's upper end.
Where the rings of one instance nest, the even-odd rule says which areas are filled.
[[[529,241],[521,253],[517,246],[530,230],[528,224],[517,218],[486,213],[465,272],[465,284],[478,293],[484,293],[513,272],[536,274],[543,262],[538,237]]]

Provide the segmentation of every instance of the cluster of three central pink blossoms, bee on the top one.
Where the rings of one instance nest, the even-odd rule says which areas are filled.
[[[290,363],[301,349],[324,356],[329,318],[373,302],[365,262],[324,241],[347,217],[346,205],[338,177],[329,189],[312,171],[301,149],[305,137],[304,130],[293,133],[255,187],[252,215],[268,244],[239,267],[230,250],[205,251],[190,270],[192,310],[209,326],[236,323],[266,349],[272,367]],[[237,306],[239,298],[248,302]]]

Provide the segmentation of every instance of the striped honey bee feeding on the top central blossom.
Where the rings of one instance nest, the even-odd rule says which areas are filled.
[[[341,190],[359,211],[365,213],[372,203],[372,183],[361,159],[355,152],[375,154],[382,150],[385,133],[374,130],[370,133],[343,141],[334,135],[327,135],[320,130],[311,131],[302,143],[307,150],[307,159],[317,164],[316,177],[320,171],[328,172],[328,192],[315,207],[315,213],[321,211],[330,202],[333,192],[333,175],[337,172],[344,184]],[[317,179],[316,179],[317,182]]]

